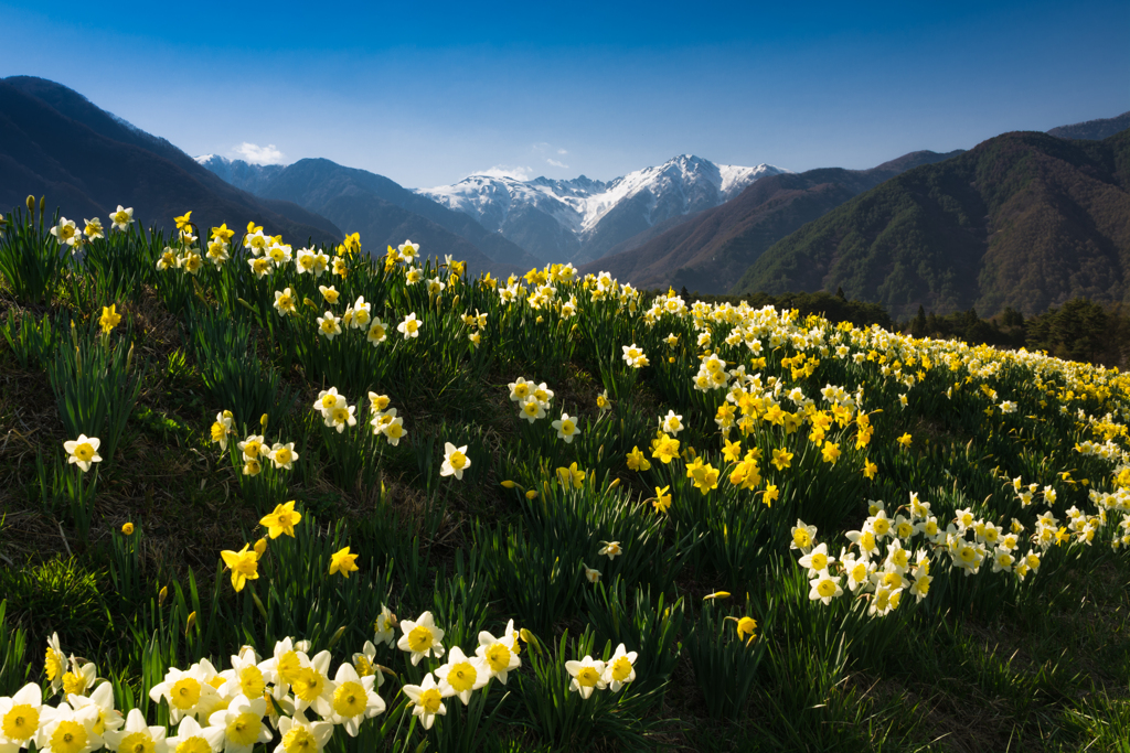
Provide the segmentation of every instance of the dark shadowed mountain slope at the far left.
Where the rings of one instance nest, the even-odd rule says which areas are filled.
[[[146,227],[171,227],[191,209],[199,227],[254,220],[296,244],[336,243],[341,230],[295,204],[267,203],[197,165],[164,139],[44,79],[0,80],[0,207],[46,194],[63,216],[102,217],[132,207]]]

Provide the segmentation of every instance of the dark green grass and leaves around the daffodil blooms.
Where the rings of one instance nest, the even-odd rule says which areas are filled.
[[[36,256],[45,282],[6,277],[0,289],[10,335],[0,345],[0,695],[27,680],[46,685],[43,650],[58,632],[68,655],[97,664],[119,708],[166,724],[167,702],[150,701],[148,690],[168,667],[209,658],[223,669],[241,645],[269,657],[292,637],[311,641],[310,656],[329,650],[332,677],[374,641],[386,605],[402,620],[432,612],[449,654],[460,646],[473,655],[480,631],[498,636],[513,620],[528,631],[522,666],[466,707],[446,698],[447,715],[425,732],[400,689],[443,660],[412,665],[376,641],[388,710],[357,738],[336,733],[336,751],[1127,750],[1130,564],[1122,550],[1112,552],[1124,508],[1104,504],[1101,522],[1092,496],[1130,488],[1119,475],[1130,420],[1122,375],[788,313],[680,312],[675,298],[611,292],[597,280],[558,279],[551,294],[540,287],[548,279],[534,281],[507,303],[506,282],[452,280],[450,268],[429,262],[425,280],[447,286],[436,296],[425,282],[406,284],[405,264],[385,269],[362,255],[342,262],[346,277],[327,272],[318,282],[336,284],[337,305],[301,304],[280,316],[275,291],[320,298],[293,264],[263,279],[240,259],[215,269],[205,262],[195,277],[159,272],[169,242],[132,229],[93,242],[105,244],[96,264],[68,256],[56,269],[53,238],[36,240],[36,233],[19,238],[46,244]],[[15,248],[5,243],[0,256]],[[119,246],[134,261],[110,263]],[[127,298],[108,299],[125,289]],[[315,315],[341,315],[360,295],[388,325],[385,342],[374,348],[364,330],[332,341],[316,334]],[[571,298],[572,318],[562,306]],[[111,303],[124,324],[103,335],[97,319]],[[662,313],[668,306],[675,313]],[[476,310],[487,314],[486,326],[463,319]],[[395,331],[408,312],[424,322],[415,340]],[[476,331],[478,347],[468,339]],[[704,331],[710,342],[699,345]],[[114,384],[137,380],[136,405],[124,388],[124,397],[103,399],[107,418],[99,420],[121,426],[121,435],[112,457],[88,474],[66,462],[73,427],[59,405],[78,415],[95,393],[75,389],[69,403],[56,402],[47,379],[73,339],[94,353],[132,348]],[[760,352],[747,347],[753,339]],[[633,343],[649,366],[633,369],[620,358]],[[837,358],[841,345],[860,360]],[[722,388],[697,389],[706,350],[758,380],[727,377]],[[62,394],[68,385],[55,371]],[[555,393],[533,423],[508,396],[520,376]],[[771,377],[783,384],[775,396]],[[843,395],[823,397],[828,385]],[[357,426],[340,434],[312,410],[331,386],[357,406]],[[812,412],[791,401],[793,388],[816,401]],[[403,419],[407,436],[395,446],[367,426],[371,391]],[[606,391],[609,412],[597,408]],[[728,391],[736,405],[744,395],[773,397],[800,429],[758,418],[725,439],[715,418]],[[858,395],[850,420],[836,423],[832,404],[858,403]],[[1003,401],[1016,412],[1002,412]],[[736,419],[767,408],[747,404]],[[209,430],[224,410],[235,423],[227,453]],[[666,464],[651,441],[669,410],[686,428]],[[580,417],[571,443],[549,428],[562,411]],[[823,412],[832,420],[814,443],[814,415]],[[866,443],[858,441],[862,412],[873,427]],[[895,438],[907,432],[911,447],[901,448]],[[243,474],[234,443],[250,434],[268,446],[294,443],[292,469],[268,462],[258,476]],[[740,447],[728,457],[730,440]],[[1076,450],[1107,440],[1113,459]],[[462,479],[440,473],[446,443],[467,446]],[[835,463],[825,443],[838,447]],[[629,467],[635,447],[649,467]],[[788,467],[772,463],[782,448],[793,453]],[[754,463],[754,450],[756,479],[744,487],[731,474]],[[875,479],[862,474],[864,459],[877,464]],[[571,464],[584,474],[577,487],[558,473]],[[716,470],[716,487],[688,474],[696,467]],[[1025,489],[1037,485],[1037,505],[1024,505],[1016,476]],[[779,492],[772,506],[770,484]],[[672,497],[667,513],[653,506],[663,487]],[[1044,487],[1055,488],[1054,502],[1045,504]],[[1022,583],[992,571],[991,546],[966,576],[941,540],[907,534],[912,558],[929,552],[924,599],[906,588],[890,614],[871,616],[877,586],[853,592],[843,580],[842,597],[814,601],[802,552],[790,549],[798,518],[840,557],[851,548],[845,532],[873,529],[870,500],[886,500],[894,520],[911,516],[910,492],[931,505],[942,529],[968,509],[1006,529],[1017,519],[1023,542],[1051,509],[1067,541],[1018,549],[1041,557]],[[234,590],[220,551],[253,544],[264,535],[260,518],[290,499],[303,515],[296,537],[267,542],[259,578]],[[1089,544],[1085,526],[1068,529],[1072,507],[1092,520]],[[131,535],[122,533],[127,523]],[[601,557],[607,541],[624,554]],[[358,571],[331,576],[331,554],[347,545]],[[600,571],[598,583],[588,570]],[[913,564],[907,585],[912,572]],[[716,592],[730,596],[704,601]],[[757,622],[751,641],[734,630],[742,616]],[[619,642],[637,653],[634,682],[589,699],[571,690],[566,662],[607,658]]]

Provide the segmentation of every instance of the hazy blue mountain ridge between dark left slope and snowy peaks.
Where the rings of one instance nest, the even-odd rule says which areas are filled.
[[[431,253],[455,254],[472,262],[475,268],[495,272],[519,268],[525,272],[540,265],[521,247],[463,212],[368,170],[344,167],[328,159],[301,159],[287,167],[249,165],[212,155],[197,161],[260,198],[294,202],[331,218],[350,233],[360,233],[370,248],[397,245],[405,238],[426,238]],[[492,263],[497,266],[490,266]]]

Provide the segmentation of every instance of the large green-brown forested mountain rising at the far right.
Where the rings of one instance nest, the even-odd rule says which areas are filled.
[[[1103,141],[990,139],[909,170],[766,251],[733,292],[836,290],[896,317],[1076,297],[1127,301],[1130,131]]]

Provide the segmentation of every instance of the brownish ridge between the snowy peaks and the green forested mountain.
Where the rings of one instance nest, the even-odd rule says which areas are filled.
[[[644,288],[725,292],[766,248],[806,222],[904,170],[958,154],[915,151],[867,170],[829,167],[763,177],[720,207],[629,238],[581,271],[608,270]]]

